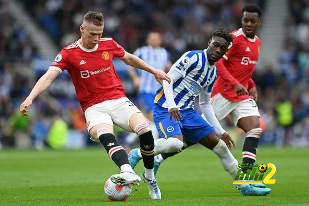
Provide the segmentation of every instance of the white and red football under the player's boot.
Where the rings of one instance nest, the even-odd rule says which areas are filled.
[[[132,192],[132,185],[118,185],[109,178],[104,185],[106,196],[112,201],[124,201]]]

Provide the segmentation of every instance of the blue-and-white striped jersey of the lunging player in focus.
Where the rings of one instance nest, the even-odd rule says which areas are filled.
[[[194,99],[202,90],[211,93],[217,78],[217,69],[209,65],[206,49],[184,53],[171,70],[182,75],[173,83],[173,97],[179,110],[193,108]],[[163,87],[157,91],[154,103],[168,108]]]

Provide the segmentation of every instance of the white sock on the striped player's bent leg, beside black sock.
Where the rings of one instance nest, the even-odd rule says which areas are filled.
[[[155,141],[155,154],[170,153],[180,150],[183,142],[177,138],[160,138]]]

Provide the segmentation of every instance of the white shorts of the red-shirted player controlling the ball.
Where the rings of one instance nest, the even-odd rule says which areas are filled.
[[[87,130],[89,132],[97,124],[114,126],[115,123],[125,130],[132,131],[129,120],[133,114],[139,112],[141,111],[127,97],[106,100],[85,110]]]

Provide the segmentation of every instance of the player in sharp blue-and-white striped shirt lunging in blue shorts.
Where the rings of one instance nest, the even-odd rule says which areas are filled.
[[[207,49],[184,53],[168,72],[171,83],[163,81],[163,87],[157,91],[153,117],[161,137],[155,141],[155,154],[181,150],[185,136],[189,142],[197,142],[212,150],[234,179],[238,162],[228,147],[232,149],[235,143],[220,125],[210,103],[217,77],[215,63],[228,51],[232,41],[233,37],[227,30],[219,29],[214,31]],[[207,120],[193,108],[197,96]],[[222,137],[219,138],[216,132]],[[133,168],[140,159],[139,149],[132,150],[129,162]],[[270,192],[269,188],[249,184],[243,184],[242,188],[246,190],[246,195],[266,195]]]

